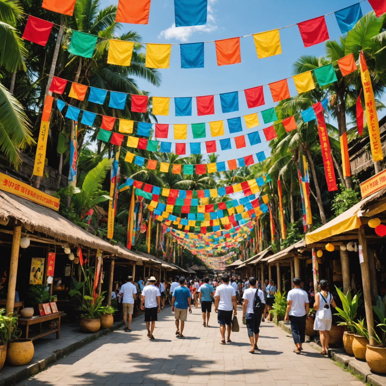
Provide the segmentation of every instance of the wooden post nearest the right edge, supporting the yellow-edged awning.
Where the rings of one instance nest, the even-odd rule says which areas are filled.
[[[359,262],[361,264],[362,271],[362,283],[363,287],[368,287],[371,283],[370,280],[370,270],[369,270],[369,259],[367,256],[367,241],[366,235],[364,233],[363,225],[358,229],[358,239],[359,239]],[[376,342],[372,335],[374,334],[374,317],[372,315],[372,304],[371,304],[371,292],[363,291],[364,297],[364,308],[366,310],[366,323],[367,330],[369,330],[369,341],[370,345],[376,345]]]

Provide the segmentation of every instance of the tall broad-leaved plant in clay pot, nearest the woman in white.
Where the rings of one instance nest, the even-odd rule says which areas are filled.
[[[352,342],[354,342],[354,334],[356,332],[356,327],[354,325],[354,318],[357,315],[357,309],[361,305],[362,300],[361,291],[351,298],[351,288],[347,290],[347,294],[344,293],[335,286],[337,293],[339,295],[340,301],[342,302],[343,310],[339,307],[336,307],[338,313],[335,315],[339,316],[344,322],[337,323],[338,326],[345,326],[348,331],[343,333],[343,346],[347,354],[353,355],[354,351],[352,350]]]

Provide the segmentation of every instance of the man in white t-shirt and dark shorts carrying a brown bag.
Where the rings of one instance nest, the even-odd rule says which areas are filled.
[[[225,344],[225,328],[228,332],[227,342],[232,342],[230,340],[232,313],[234,310],[235,316],[237,315],[237,300],[235,289],[229,284],[229,275],[223,274],[221,281],[222,284],[216,288],[215,312],[222,337],[220,344]]]

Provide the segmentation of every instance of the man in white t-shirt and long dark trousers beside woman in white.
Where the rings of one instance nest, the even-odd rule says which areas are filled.
[[[310,311],[310,303],[308,294],[300,288],[301,279],[293,278],[292,283],[295,288],[288,292],[288,305],[284,320],[289,320],[291,323],[292,337],[295,343],[293,352],[300,354],[303,350],[301,344],[305,342],[306,318]]]

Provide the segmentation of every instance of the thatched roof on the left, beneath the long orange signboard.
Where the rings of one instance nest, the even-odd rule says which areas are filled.
[[[52,209],[15,196],[12,193],[0,191],[0,220],[6,225],[11,219],[13,221],[19,220],[30,232],[42,232],[59,239],[61,242],[100,249],[132,261],[142,260],[124,247],[111,245],[107,241],[91,235]]]

